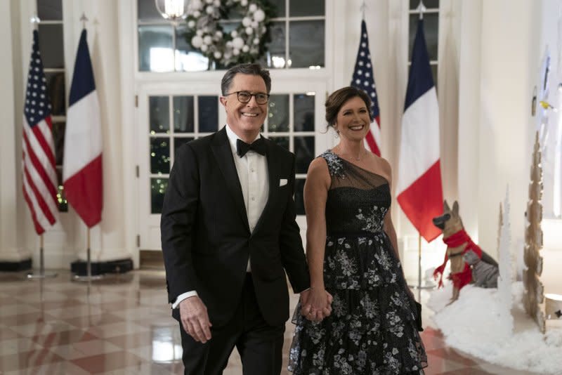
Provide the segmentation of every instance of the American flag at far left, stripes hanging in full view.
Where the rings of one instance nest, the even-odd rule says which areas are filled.
[[[33,32],[30,71],[23,110],[23,196],[38,235],[57,221],[57,174],[51,105],[47,96],[39,33]]]

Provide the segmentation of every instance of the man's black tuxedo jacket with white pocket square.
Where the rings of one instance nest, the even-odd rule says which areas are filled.
[[[254,232],[226,129],[180,147],[171,169],[160,223],[169,302],[197,291],[214,327],[237,308],[248,258],[268,324],[289,317],[285,271],[296,293],[310,285],[295,221],[294,154],[268,139],[266,145],[269,196]],[[172,315],[179,320],[178,309]]]

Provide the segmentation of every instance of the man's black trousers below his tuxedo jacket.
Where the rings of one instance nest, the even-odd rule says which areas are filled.
[[[247,274],[242,298],[232,320],[211,327],[211,340],[198,343],[181,326],[185,375],[221,375],[230,353],[237,348],[244,375],[279,375],[285,324],[270,326],[263,320],[251,274]]]

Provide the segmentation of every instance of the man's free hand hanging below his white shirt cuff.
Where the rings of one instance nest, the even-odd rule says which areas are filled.
[[[209,321],[207,307],[201,298],[192,296],[180,302],[180,317],[183,329],[195,341],[206,343],[211,339],[211,329],[213,325]]]

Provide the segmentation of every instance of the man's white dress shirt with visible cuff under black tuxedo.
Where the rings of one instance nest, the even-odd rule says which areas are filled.
[[[228,143],[230,143],[230,150],[233,152],[238,180],[240,180],[240,186],[242,187],[250,232],[254,232],[259,217],[268,202],[268,161],[265,155],[258,154],[253,150],[249,150],[243,157],[239,157],[236,153],[236,140],[240,137],[230,129],[228,124],[226,124],[226,135],[228,136]],[[256,139],[259,137],[258,134]],[[248,258],[247,272],[251,272],[250,262],[251,259]],[[177,308],[181,301],[192,296],[197,296],[197,291],[187,291],[180,294],[171,307]]]

